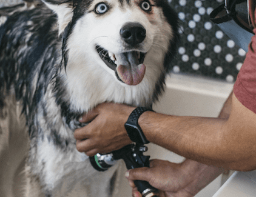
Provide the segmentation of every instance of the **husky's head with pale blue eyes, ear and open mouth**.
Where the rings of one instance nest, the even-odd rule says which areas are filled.
[[[164,59],[175,52],[177,15],[167,1],[43,1],[58,15],[66,65],[87,56],[127,85],[140,84],[147,64],[168,70]]]

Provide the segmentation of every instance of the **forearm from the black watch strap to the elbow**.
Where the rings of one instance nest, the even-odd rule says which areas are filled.
[[[222,163],[224,147],[221,127],[224,119],[170,116],[146,112],[139,119],[146,138],[185,158],[204,164]],[[223,150],[221,150],[223,148]]]

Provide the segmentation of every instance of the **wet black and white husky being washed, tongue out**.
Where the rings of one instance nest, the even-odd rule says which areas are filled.
[[[1,196],[113,196],[118,165],[96,172],[76,150],[78,118],[102,102],[151,107],[177,39],[166,0],[27,0],[1,8]]]

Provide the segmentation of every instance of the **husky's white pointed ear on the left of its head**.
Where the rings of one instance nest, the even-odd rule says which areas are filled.
[[[70,21],[73,18],[73,1],[70,0],[42,0],[58,16],[59,35],[64,32]]]

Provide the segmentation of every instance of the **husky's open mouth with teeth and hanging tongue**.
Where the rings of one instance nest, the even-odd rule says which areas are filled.
[[[146,66],[143,64],[146,53],[124,52],[110,53],[99,45],[96,46],[101,59],[115,71],[117,78],[127,85],[138,85],[143,80]]]

